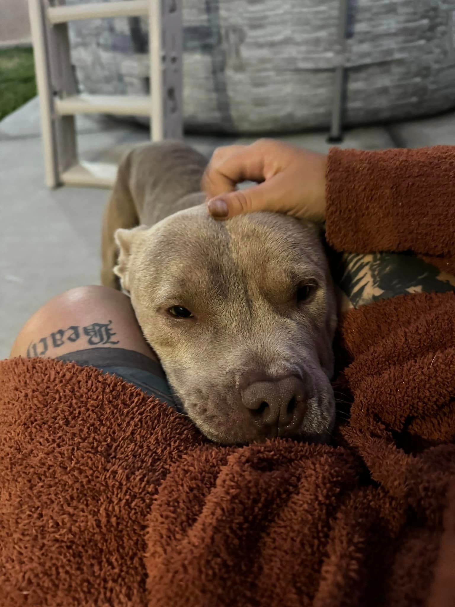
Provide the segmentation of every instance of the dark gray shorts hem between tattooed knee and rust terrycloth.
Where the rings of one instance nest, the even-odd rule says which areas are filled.
[[[150,396],[179,410],[160,363],[134,350],[87,348],[57,356],[56,360],[75,362],[80,367],[96,367],[101,373],[116,375]]]

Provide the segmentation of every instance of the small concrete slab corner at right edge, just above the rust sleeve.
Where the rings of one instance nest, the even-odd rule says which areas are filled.
[[[455,112],[391,124],[389,133],[400,148],[455,145]]]

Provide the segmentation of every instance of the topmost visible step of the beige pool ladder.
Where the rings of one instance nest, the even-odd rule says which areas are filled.
[[[100,19],[104,17],[133,17],[147,15],[147,0],[123,0],[121,2],[95,2],[94,4],[73,4],[47,8],[47,18],[52,24]]]

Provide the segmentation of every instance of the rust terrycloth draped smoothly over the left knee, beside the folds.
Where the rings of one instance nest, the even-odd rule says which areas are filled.
[[[93,367],[0,362],[1,607],[147,605],[152,498],[201,443],[186,418]]]

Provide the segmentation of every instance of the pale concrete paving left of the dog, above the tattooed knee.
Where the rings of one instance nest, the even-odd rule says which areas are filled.
[[[25,320],[50,297],[98,283],[99,226],[108,192],[47,189],[39,138],[0,141],[0,166],[1,359]]]

